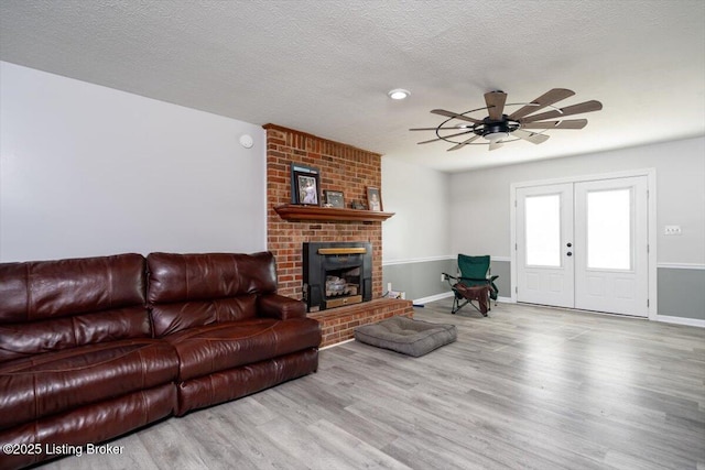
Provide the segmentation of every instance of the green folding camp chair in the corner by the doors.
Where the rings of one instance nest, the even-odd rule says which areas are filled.
[[[495,281],[499,276],[491,275],[490,258],[468,256],[467,254],[458,254],[458,276],[443,273],[453,291],[453,309],[452,314],[456,314],[460,308],[470,304],[477,311],[487,316],[487,311],[491,310],[491,302],[497,305],[497,296],[499,289]],[[477,305],[473,303],[477,302]]]

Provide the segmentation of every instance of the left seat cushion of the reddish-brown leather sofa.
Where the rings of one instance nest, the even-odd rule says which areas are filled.
[[[0,364],[0,429],[173,382],[178,358],[154,339],[89,345]]]

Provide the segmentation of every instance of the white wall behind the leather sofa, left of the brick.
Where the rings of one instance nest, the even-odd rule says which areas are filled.
[[[0,63],[0,261],[264,250],[264,152],[258,125]]]

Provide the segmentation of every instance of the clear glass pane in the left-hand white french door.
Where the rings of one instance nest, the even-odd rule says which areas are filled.
[[[530,196],[527,209],[527,265],[561,266],[561,195]]]

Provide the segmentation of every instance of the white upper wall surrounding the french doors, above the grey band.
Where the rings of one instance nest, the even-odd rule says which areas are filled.
[[[705,138],[696,138],[452,175],[447,207],[457,215],[449,223],[452,251],[510,256],[511,183],[655,168],[657,262],[703,265],[704,155]],[[663,236],[665,225],[680,225],[683,234]]]

